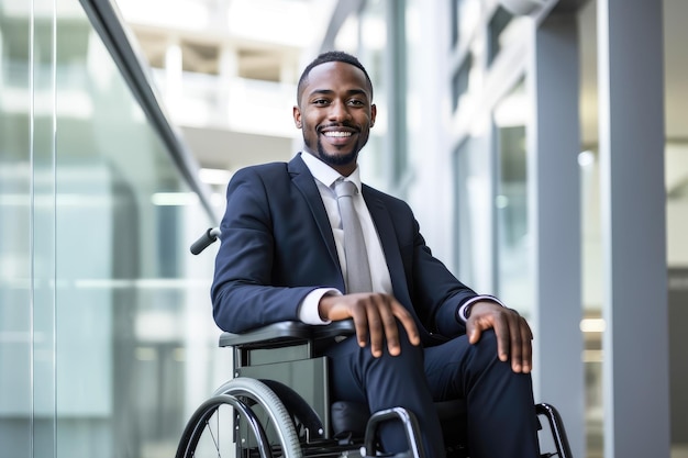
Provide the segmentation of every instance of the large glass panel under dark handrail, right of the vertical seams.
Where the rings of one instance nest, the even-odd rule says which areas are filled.
[[[202,305],[212,255],[187,250],[212,222],[76,0],[62,3],[57,455],[171,456],[188,410],[219,383],[214,359],[230,360]]]

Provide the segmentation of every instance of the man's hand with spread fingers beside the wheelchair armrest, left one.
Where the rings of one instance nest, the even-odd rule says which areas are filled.
[[[370,338],[370,351],[376,358],[382,356],[385,340],[390,355],[397,356],[401,353],[397,320],[403,325],[411,344],[419,345],[421,342],[413,317],[390,294],[365,292],[324,295],[320,300],[318,312],[323,320],[354,319],[358,345],[365,347]]]

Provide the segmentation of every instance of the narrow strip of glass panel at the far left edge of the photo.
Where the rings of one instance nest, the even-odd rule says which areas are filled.
[[[8,457],[32,453],[32,20],[30,4],[0,0],[0,444]]]

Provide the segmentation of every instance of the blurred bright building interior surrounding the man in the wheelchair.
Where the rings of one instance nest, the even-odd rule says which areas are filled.
[[[188,246],[232,171],[300,148],[296,79],[332,48],[375,85],[364,180],[529,319],[535,399],[574,455],[688,456],[687,18],[684,0],[0,0],[0,456],[174,454],[232,376],[217,246]]]

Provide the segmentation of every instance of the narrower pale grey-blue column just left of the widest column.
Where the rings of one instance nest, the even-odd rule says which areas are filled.
[[[562,413],[572,453],[582,457],[580,70],[575,14],[547,18],[536,27],[533,67],[529,197],[534,241],[535,400],[552,403]]]

